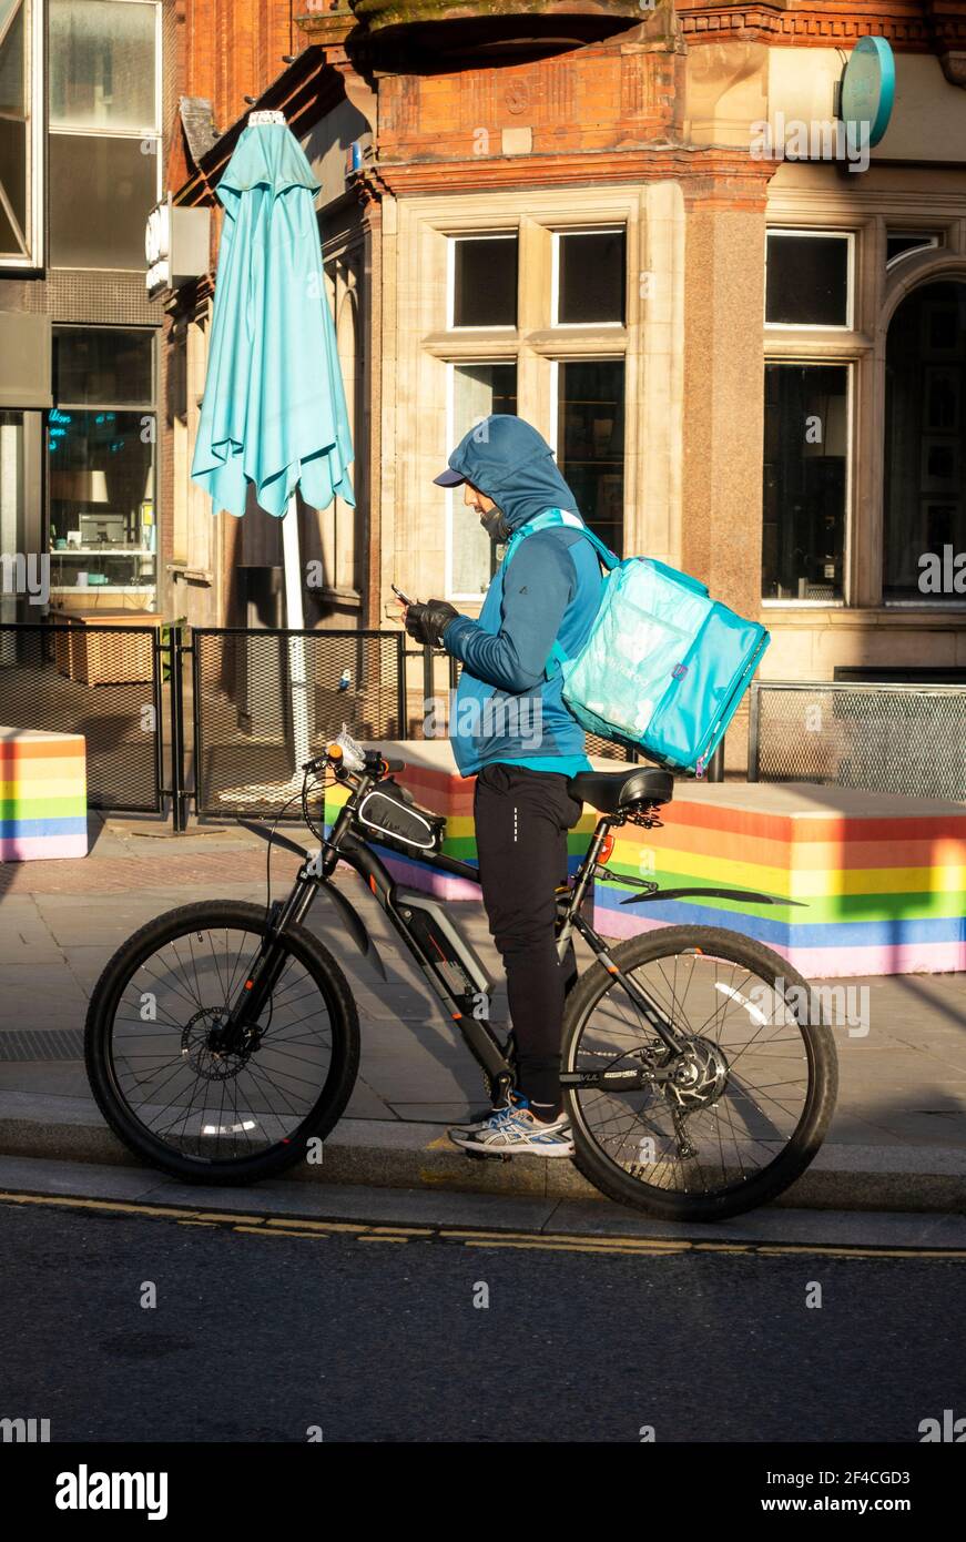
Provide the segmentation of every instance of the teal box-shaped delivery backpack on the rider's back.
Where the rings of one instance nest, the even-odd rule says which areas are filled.
[[[590,637],[573,658],[555,643],[547,675],[562,671],[564,702],[590,732],[669,771],[703,776],[769,646],[767,631],[666,563],[621,561],[569,510],[528,520],[510,546],[552,524],[581,529],[609,572]]]

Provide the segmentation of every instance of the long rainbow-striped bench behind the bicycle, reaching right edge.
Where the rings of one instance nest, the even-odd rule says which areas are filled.
[[[382,742],[405,760],[397,780],[418,803],[447,816],[444,851],[476,862],[473,779],[464,780],[445,740]],[[621,763],[593,757],[595,769]],[[345,800],[327,794],[331,823]],[[584,810],[569,836],[573,870],[587,848],[596,813]],[[756,938],[810,978],[966,970],[966,805],[827,788],[809,783],[675,785],[662,825],[616,831],[609,871],[595,885],[595,925],[627,938],[683,922],[729,927]],[[465,879],[387,853],[401,882],[445,899],[476,899]],[[636,893],[621,876],[652,877],[664,888],[760,890],[795,905],[732,899],[656,901],[622,905]]]

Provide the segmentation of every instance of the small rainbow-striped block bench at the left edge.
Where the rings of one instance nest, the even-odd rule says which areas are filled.
[[[86,857],[83,734],[0,728],[0,860]]]

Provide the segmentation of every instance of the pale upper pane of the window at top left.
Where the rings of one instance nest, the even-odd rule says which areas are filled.
[[[154,6],[51,0],[52,128],[157,126]]]

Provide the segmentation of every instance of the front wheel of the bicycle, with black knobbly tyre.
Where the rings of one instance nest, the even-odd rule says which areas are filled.
[[[190,1183],[253,1183],[314,1156],[359,1069],[348,982],[302,927],[247,1049],[211,1032],[259,956],[265,911],[234,901],[171,910],[100,976],[85,1029],[88,1079],[117,1136]]]

